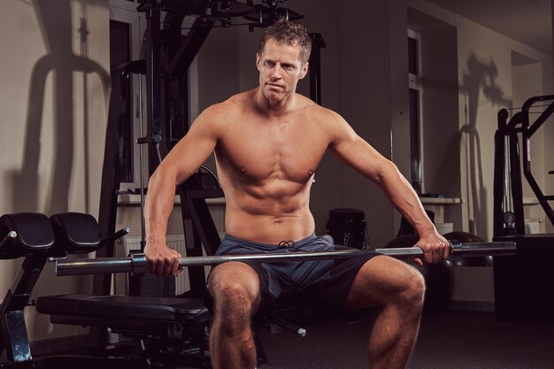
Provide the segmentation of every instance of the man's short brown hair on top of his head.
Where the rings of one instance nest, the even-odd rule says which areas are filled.
[[[287,19],[279,19],[273,25],[266,27],[259,41],[258,55],[262,55],[265,42],[273,39],[277,42],[287,43],[292,46],[300,46],[300,58],[304,65],[312,52],[312,37],[308,35],[306,27]]]

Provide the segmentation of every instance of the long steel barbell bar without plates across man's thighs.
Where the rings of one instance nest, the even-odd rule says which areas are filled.
[[[450,254],[454,257],[505,256],[516,252],[515,242],[450,242]],[[284,261],[306,261],[352,258],[367,255],[387,255],[393,258],[417,258],[423,256],[419,247],[376,250],[335,250],[304,252],[296,249],[282,249],[279,253],[231,254],[210,257],[180,258],[179,266],[218,265],[229,261],[258,261],[279,263]],[[56,261],[56,275],[81,275],[104,273],[146,273],[144,254],[127,258],[81,258]]]

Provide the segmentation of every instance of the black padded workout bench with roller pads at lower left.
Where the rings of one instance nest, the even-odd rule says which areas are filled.
[[[0,218],[0,258],[25,257],[2,304],[0,350],[6,349],[8,363],[0,364],[0,368],[211,367],[206,352],[212,316],[201,299],[189,298],[41,296],[36,310],[50,314],[50,322],[110,328],[113,333],[132,337],[135,344],[133,350],[123,351],[125,355],[119,357],[105,348],[94,348],[95,357],[56,357],[55,361],[54,357],[44,357],[40,364],[31,356],[23,309],[35,304],[30,295],[47,260],[98,250],[126,233],[121,231],[101,241],[96,219],[81,213],[56,214],[50,219],[37,213]]]

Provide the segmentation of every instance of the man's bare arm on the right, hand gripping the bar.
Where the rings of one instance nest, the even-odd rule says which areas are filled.
[[[424,250],[425,261],[436,263],[450,257],[450,242],[436,231],[427,217],[419,196],[396,165],[359,137],[343,119],[336,125],[330,149],[342,161],[375,182],[390,202],[404,215],[419,234],[417,246]],[[420,263],[420,260],[417,260]]]

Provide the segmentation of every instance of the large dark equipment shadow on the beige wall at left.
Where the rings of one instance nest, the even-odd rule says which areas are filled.
[[[73,167],[74,95],[73,76],[82,72],[85,163],[88,163],[88,74],[94,73],[102,81],[107,101],[110,75],[94,60],[88,58],[88,29],[86,7],[81,2],[82,17],[80,54],[73,53],[72,2],[69,0],[34,0],[36,17],[42,28],[42,38],[48,54],[40,58],[31,73],[27,104],[26,142],[23,167],[13,178],[12,209],[14,211],[43,211],[47,214],[68,211],[68,194]],[[94,3],[94,2],[93,2]],[[38,204],[39,162],[41,154],[42,110],[46,78],[53,72],[53,141],[52,165],[49,171],[50,188],[45,193],[47,203]],[[88,168],[84,168],[88,186]],[[88,194],[88,188],[83,188]],[[85,196],[88,198],[88,196]],[[87,200],[88,201],[88,200]],[[85,203],[84,211],[89,210]]]

